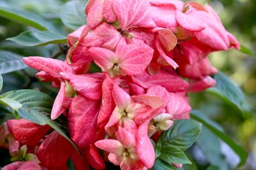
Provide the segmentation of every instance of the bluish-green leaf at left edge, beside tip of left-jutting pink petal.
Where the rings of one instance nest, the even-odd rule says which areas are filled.
[[[16,53],[0,51],[0,74],[10,73],[28,67],[24,64],[22,56]]]

